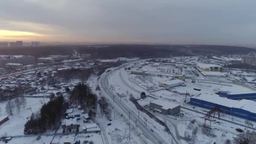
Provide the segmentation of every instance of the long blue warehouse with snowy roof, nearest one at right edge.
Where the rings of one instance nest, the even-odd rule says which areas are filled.
[[[225,114],[256,121],[256,101],[247,99],[236,101],[220,96],[202,94],[191,97],[189,103],[206,109],[219,107],[220,111]]]

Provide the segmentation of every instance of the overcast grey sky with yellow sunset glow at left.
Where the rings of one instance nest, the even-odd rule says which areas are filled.
[[[256,44],[256,0],[0,0],[0,41]]]

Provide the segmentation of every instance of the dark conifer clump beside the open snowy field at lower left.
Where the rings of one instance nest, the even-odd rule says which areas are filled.
[[[59,121],[68,107],[64,97],[58,96],[43,104],[40,112],[32,113],[30,119],[24,125],[24,134],[39,134],[46,130],[58,128]]]

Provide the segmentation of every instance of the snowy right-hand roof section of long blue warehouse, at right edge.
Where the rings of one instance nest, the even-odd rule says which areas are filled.
[[[233,107],[256,113],[256,101],[242,99],[241,101],[238,101],[237,104],[235,104]]]

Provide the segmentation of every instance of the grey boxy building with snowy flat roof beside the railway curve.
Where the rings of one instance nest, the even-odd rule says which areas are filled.
[[[163,115],[176,115],[180,112],[181,106],[159,99],[150,101],[150,109],[162,112]]]

